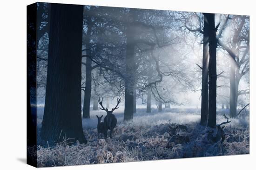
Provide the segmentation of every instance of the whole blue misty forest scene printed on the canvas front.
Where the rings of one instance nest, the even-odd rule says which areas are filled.
[[[249,154],[249,16],[35,6],[34,164]]]

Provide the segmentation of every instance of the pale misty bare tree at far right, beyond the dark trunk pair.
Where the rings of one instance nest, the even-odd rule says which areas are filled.
[[[233,29],[232,34],[219,38],[218,44],[230,56],[229,114],[236,117],[238,96],[249,94],[249,89],[239,90],[240,80],[249,72],[249,17],[234,15],[226,27]]]

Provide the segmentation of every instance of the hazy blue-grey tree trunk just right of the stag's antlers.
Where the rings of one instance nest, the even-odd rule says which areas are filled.
[[[124,120],[133,119],[134,113],[134,85],[135,85],[135,9],[128,13],[128,24],[126,30],[126,80],[125,80],[125,102]]]

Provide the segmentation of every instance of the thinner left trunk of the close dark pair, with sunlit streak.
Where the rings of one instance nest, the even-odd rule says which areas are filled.
[[[201,125],[206,126],[208,120],[208,66],[209,66],[209,22],[203,17],[203,51],[202,51],[202,98],[201,98]]]

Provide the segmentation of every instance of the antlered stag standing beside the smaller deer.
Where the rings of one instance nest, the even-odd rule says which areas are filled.
[[[105,140],[107,140],[107,136],[108,136],[108,129],[110,130],[110,138],[112,138],[112,132],[116,126],[116,123],[117,123],[117,120],[116,120],[116,117],[115,117],[115,114],[113,114],[113,111],[115,109],[118,109],[119,108],[119,104],[121,103],[121,98],[117,98],[117,104],[115,106],[115,108],[112,108],[111,111],[108,111],[108,108],[104,108],[103,105],[102,105],[102,101],[103,101],[103,98],[99,98],[99,104],[101,105],[100,109],[101,110],[105,110],[107,112],[107,116],[105,116],[104,118],[104,135],[105,135]]]

